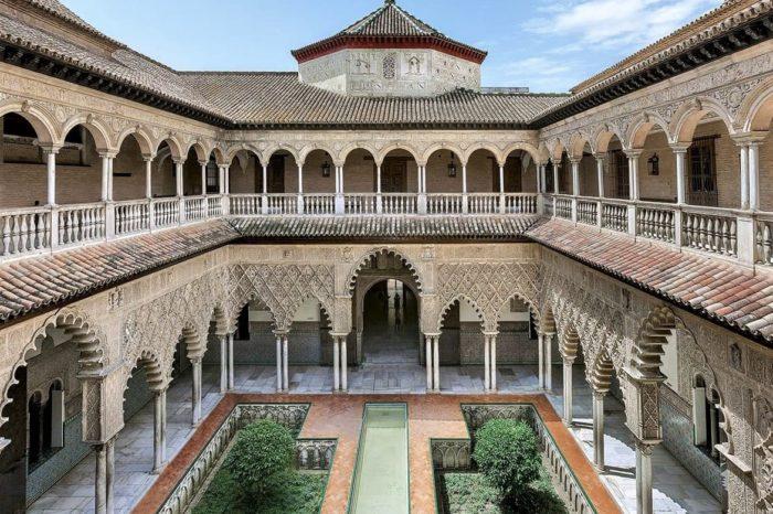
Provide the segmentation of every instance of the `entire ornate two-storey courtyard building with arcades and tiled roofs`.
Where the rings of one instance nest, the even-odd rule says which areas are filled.
[[[392,331],[413,393],[547,395],[623,511],[695,505],[677,470],[771,512],[772,34],[772,0],[726,1],[536,94],[393,0],[297,72],[180,72],[0,0],[0,511],[62,476],[133,504],[168,400],[182,433],[234,390],[363,392]]]

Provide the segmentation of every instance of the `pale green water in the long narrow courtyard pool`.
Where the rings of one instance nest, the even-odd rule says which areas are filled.
[[[366,405],[349,512],[410,512],[407,406]]]

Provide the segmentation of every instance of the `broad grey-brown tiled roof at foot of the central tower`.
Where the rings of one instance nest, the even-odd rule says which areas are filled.
[[[258,126],[430,126],[527,124],[564,96],[457,89],[430,98],[352,97],[298,81],[297,73],[198,73],[182,76],[226,117]]]

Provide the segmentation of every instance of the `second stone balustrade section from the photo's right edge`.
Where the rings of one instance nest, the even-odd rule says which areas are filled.
[[[732,213],[688,208],[681,215],[684,246],[729,257],[738,255],[738,222]]]

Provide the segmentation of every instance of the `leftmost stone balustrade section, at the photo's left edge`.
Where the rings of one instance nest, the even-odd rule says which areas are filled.
[[[51,248],[51,208],[20,208],[0,215],[3,258],[38,254]]]

